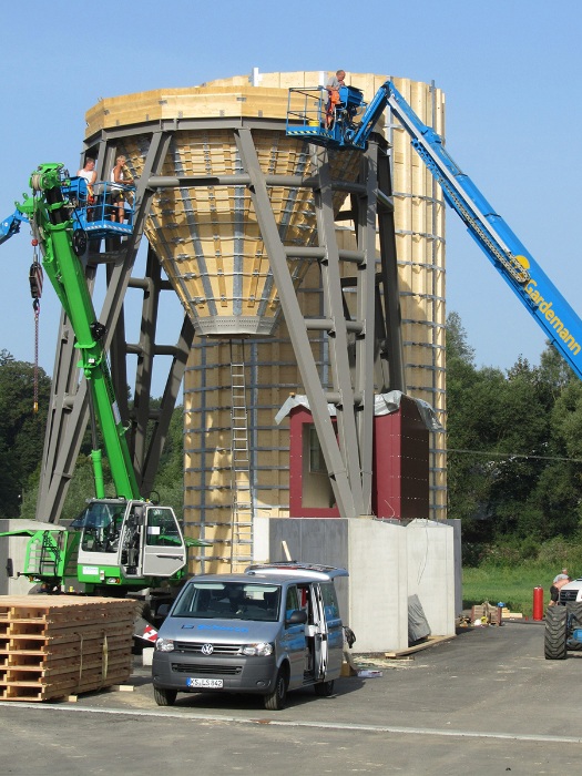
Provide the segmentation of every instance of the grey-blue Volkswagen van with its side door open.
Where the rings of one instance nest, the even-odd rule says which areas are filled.
[[[289,562],[193,576],[155,643],[157,705],[172,705],[178,692],[254,693],[269,709],[298,687],[331,695],[344,646],[334,579],[347,575]]]

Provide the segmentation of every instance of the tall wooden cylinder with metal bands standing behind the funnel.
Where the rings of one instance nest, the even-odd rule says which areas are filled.
[[[348,73],[346,82],[361,89],[365,99],[370,100],[387,78]],[[243,79],[232,79],[210,85],[234,88],[242,81]],[[282,100],[286,100],[287,88],[313,86],[321,82],[321,76],[314,73],[264,73],[257,89],[269,92],[280,90]],[[422,121],[443,134],[445,99],[440,90],[407,79],[395,79],[395,82]],[[432,405],[445,425],[445,203],[431,175],[398,123],[387,116],[384,132],[392,145],[407,390],[411,396]],[[337,231],[340,244],[353,247],[354,235],[349,226],[338,221]],[[308,270],[298,295],[303,308],[316,315],[321,305],[317,267],[313,266]],[[320,343],[320,347],[321,374],[325,379],[325,344]],[[285,321],[282,321],[273,339],[257,339],[247,343],[246,348],[254,514],[285,517],[289,503],[288,437],[287,429],[276,426],[273,417],[288,392],[300,390],[300,378]],[[221,523],[223,535],[228,530],[231,397],[227,364],[226,344],[195,341],[185,376],[186,520],[196,522],[197,513],[205,514],[207,523],[216,525],[211,528],[207,535],[221,535]],[[215,377],[211,377],[213,372]],[[208,380],[215,387],[210,386]],[[217,408],[221,408],[222,420],[216,427]],[[208,445],[213,437],[216,441],[214,450],[213,445]],[[432,519],[446,518],[445,460],[445,435],[432,433]],[[192,504],[191,509],[188,504]]]

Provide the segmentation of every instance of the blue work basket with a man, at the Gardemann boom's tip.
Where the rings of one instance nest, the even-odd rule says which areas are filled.
[[[289,89],[286,134],[316,145],[344,147],[356,133],[366,103],[356,86],[340,86],[338,91],[339,102],[329,105],[325,86]]]

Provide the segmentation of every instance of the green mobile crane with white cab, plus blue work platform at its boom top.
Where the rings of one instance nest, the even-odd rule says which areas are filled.
[[[104,188],[106,183],[101,185]],[[68,530],[42,522],[35,528],[25,521],[22,531],[7,533],[30,537],[22,573],[55,592],[76,581],[85,592],[119,596],[176,581],[184,574],[186,544],[203,542],[185,541],[172,508],[140,493],[110,376],[105,329],[96,319],[82,262],[89,238],[131,234],[131,206],[125,210],[125,223],[114,221],[104,192],[102,202],[91,202],[86,182],[69,177],[62,164],[40,165],[30,186],[32,196],[24,195],[1,223],[0,244],[17,234],[21,224],[30,224],[42,267],[71,323],[89,387],[95,498]],[[105,497],[98,425],[114,498]]]

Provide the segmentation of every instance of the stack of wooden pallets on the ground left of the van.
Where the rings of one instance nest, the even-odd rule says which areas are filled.
[[[0,595],[0,700],[48,701],[126,682],[137,602]]]

